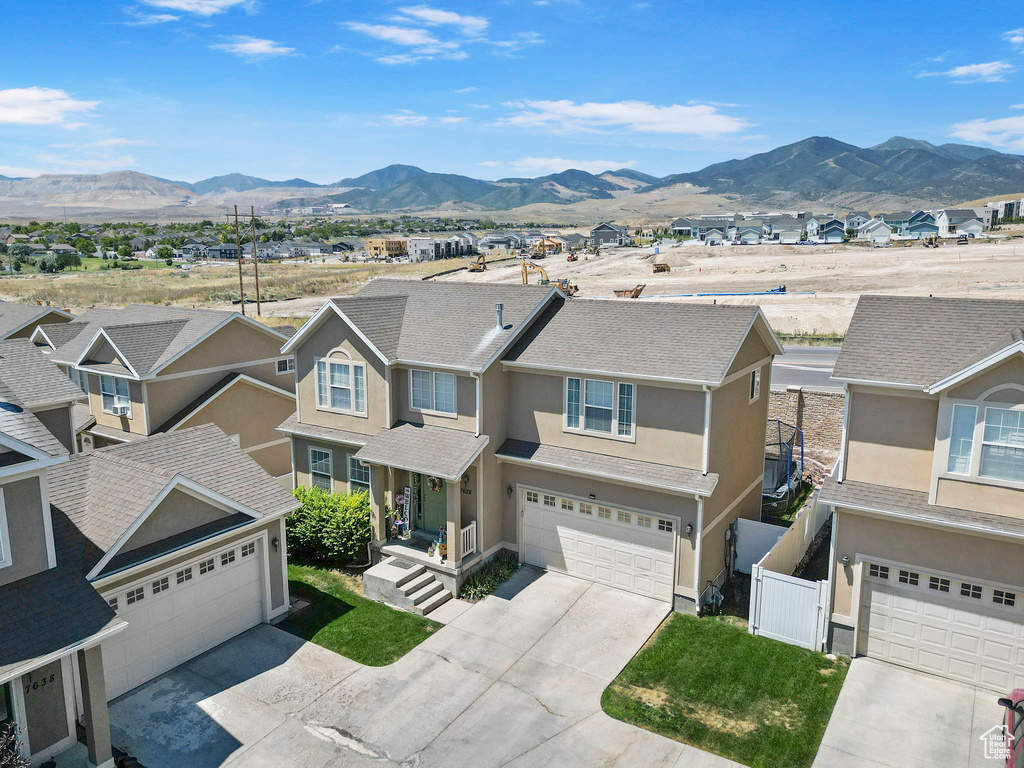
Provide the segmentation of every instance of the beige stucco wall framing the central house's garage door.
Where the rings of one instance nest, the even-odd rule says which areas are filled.
[[[594,495],[595,504],[607,504],[608,506],[623,506],[631,509],[647,510],[654,514],[672,516],[679,520],[679,530],[686,528],[687,524],[696,527],[697,503],[692,498],[672,496],[670,494],[659,494],[646,488],[638,488],[630,485],[618,485],[605,482],[603,480],[579,477],[574,475],[549,472],[547,470],[535,469],[516,464],[502,464],[501,487],[511,485],[513,488],[517,484],[530,487],[553,490],[556,494],[588,499]],[[504,509],[504,541],[519,545],[518,537],[518,495],[502,495]],[[693,585],[693,551],[695,549],[696,537],[691,536],[686,539],[685,535],[679,538],[679,562],[676,583],[691,588]]]

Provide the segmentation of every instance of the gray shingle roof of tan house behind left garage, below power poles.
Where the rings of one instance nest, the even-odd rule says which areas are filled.
[[[51,359],[74,365],[102,329],[127,357],[125,361],[139,376],[146,376],[196,344],[232,314],[241,316],[216,309],[131,304],[119,309],[90,309],[59,330],[51,332],[54,327],[45,326],[43,332],[56,345]],[[280,336],[282,344],[288,338],[276,328],[267,328],[267,331]]]

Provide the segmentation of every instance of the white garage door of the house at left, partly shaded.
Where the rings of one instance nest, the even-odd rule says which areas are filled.
[[[105,594],[128,622],[127,629],[103,643],[106,697],[260,624],[265,557],[259,541],[236,544]]]

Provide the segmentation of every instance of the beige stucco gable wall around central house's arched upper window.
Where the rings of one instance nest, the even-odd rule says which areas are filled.
[[[318,357],[328,357],[336,349],[344,350],[353,362],[367,366],[367,416],[336,414],[316,408],[316,366]],[[335,353],[338,360],[345,354]],[[361,434],[375,434],[387,423],[386,366],[337,315],[329,316],[295,350],[298,375],[299,418],[306,424],[319,424]]]

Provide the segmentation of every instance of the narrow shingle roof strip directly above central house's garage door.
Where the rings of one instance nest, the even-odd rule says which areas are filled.
[[[498,449],[499,458],[529,462],[539,467],[568,473],[604,477],[647,487],[683,494],[711,496],[718,484],[718,475],[701,474],[698,469],[670,467],[667,464],[620,459],[588,451],[544,445],[539,442],[509,438]]]

